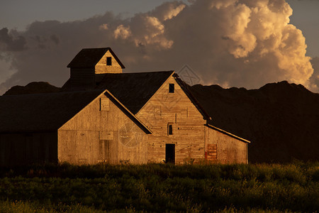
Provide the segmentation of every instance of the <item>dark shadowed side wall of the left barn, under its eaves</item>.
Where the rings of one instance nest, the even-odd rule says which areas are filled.
[[[57,163],[57,132],[1,133],[0,165]]]

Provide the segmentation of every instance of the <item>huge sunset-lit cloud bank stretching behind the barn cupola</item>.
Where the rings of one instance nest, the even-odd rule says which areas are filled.
[[[318,90],[317,59],[289,23],[284,0],[172,1],[132,18],[111,12],[82,21],[34,22],[0,31],[0,55],[17,70],[1,87],[69,77],[66,65],[82,48],[111,47],[125,72],[179,70],[189,65],[203,84],[257,88],[288,80]]]

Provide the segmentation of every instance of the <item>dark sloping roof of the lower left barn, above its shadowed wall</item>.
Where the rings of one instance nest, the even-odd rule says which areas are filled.
[[[57,92],[0,97],[0,132],[54,131],[101,94]]]

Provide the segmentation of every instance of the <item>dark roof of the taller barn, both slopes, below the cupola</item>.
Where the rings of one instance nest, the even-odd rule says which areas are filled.
[[[203,118],[211,120],[208,113],[201,107],[201,104],[191,94],[188,85],[185,84],[179,76],[170,71],[157,72],[131,72],[131,73],[106,73],[98,85],[91,89],[108,89],[122,104],[125,105],[133,114],[137,114],[140,109],[148,102],[148,100],[157,92],[159,87],[173,75],[177,83],[183,89],[187,97],[201,112]],[[62,87],[62,91],[82,90],[79,85],[73,85],[68,80]]]

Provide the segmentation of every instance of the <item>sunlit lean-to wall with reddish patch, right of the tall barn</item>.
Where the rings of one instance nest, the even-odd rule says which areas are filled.
[[[247,143],[206,128],[206,158],[213,163],[248,163]]]

